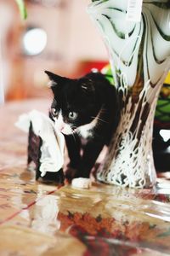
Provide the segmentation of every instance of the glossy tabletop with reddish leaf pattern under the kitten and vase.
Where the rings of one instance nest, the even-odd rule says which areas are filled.
[[[154,189],[38,183],[26,170],[27,136],[14,126],[49,102],[0,108],[0,255],[170,255],[169,175]]]

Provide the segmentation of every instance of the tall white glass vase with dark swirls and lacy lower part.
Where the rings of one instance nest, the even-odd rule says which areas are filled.
[[[140,21],[127,20],[127,0],[96,0],[88,14],[108,49],[121,116],[99,181],[133,188],[156,183],[153,120],[170,68],[170,2],[144,1]]]

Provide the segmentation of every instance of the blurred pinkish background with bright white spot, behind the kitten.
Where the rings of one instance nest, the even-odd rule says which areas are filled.
[[[14,0],[0,0],[0,74],[5,101],[47,96],[50,70],[76,78],[108,62],[86,12],[88,0],[27,0],[21,20]]]

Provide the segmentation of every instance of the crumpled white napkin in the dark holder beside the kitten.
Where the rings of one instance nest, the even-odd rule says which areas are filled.
[[[65,138],[56,130],[54,123],[44,113],[32,110],[21,114],[15,126],[20,130],[29,132],[30,125],[34,133],[42,138],[40,169],[41,176],[46,172],[58,172],[64,165]]]

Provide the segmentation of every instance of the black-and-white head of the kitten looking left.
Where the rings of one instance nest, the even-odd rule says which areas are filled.
[[[101,108],[94,81],[87,78],[66,79],[54,73],[46,73],[54,94],[50,116],[56,128],[64,134],[92,130]]]

